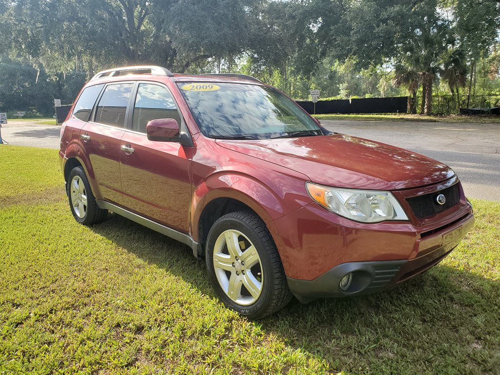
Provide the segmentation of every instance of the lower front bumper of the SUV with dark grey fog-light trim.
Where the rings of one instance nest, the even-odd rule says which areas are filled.
[[[473,223],[474,215],[469,213],[421,238],[418,241],[420,251],[408,259],[346,262],[313,280],[287,277],[288,286],[303,303],[318,297],[341,297],[390,289],[440,262],[456,247]],[[340,280],[350,272],[351,284],[346,290],[341,290]]]

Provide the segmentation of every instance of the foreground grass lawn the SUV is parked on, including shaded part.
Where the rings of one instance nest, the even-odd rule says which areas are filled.
[[[472,232],[397,289],[251,322],[187,246],[116,214],[77,224],[57,169],[0,146],[0,373],[498,374],[500,203],[472,199]]]

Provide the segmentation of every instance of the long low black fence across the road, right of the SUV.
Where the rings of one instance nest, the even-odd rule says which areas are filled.
[[[397,97],[366,97],[359,99],[335,99],[312,101],[297,101],[308,113],[406,113],[407,96]]]

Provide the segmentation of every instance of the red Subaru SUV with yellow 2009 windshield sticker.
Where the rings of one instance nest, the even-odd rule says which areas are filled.
[[[189,245],[219,298],[249,318],[292,295],[393,287],[474,221],[446,165],[330,132],[240,74],[101,71],[61,127],[59,156],[78,222],[111,210]]]

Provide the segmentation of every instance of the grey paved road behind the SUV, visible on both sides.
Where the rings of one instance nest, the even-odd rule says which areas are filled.
[[[500,201],[500,124],[322,120],[326,128],[393,144],[449,165],[465,194]],[[22,121],[3,125],[9,144],[59,148],[59,126]],[[0,151],[1,152],[1,151]]]

